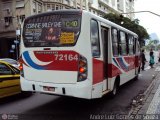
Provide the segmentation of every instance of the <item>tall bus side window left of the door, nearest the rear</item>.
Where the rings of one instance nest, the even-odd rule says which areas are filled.
[[[91,20],[91,49],[93,57],[100,57],[98,22]]]

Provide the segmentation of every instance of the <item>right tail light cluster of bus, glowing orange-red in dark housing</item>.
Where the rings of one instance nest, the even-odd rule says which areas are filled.
[[[78,82],[84,81],[87,79],[88,68],[87,68],[87,59],[83,56],[79,57],[79,71],[78,71]]]

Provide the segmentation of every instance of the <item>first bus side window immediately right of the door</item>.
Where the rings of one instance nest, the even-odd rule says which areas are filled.
[[[112,29],[112,50],[113,56],[118,56],[118,31],[117,29]]]

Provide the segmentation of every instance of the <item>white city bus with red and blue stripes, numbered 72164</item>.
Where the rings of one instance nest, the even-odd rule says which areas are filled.
[[[23,91],[84,99],[115,96],[140,71],[137,34],[84,10],[29,16],[21,39]]]

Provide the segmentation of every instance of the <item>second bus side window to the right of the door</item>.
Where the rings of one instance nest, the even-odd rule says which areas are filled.
[[[120,42],[119,42],[119,47],[120,47],[120,54],[121,55],[127,55],[127,42],[126,42],[126,34],[125,32],[120,31]]]

